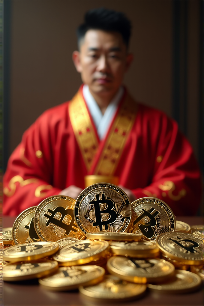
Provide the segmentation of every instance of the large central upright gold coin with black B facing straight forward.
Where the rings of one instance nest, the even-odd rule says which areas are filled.
[[[84,189],[74,207],[75,222],[85,235],[97,231],[127,232],[131,216],[131,202],[126,193],[106,183]]]

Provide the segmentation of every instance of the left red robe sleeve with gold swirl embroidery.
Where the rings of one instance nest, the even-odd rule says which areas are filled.
[[[3,214],[16,216],[36,206],[60,188],[52,186],[53,136],[46,113],[23,134],[12,153],[3,180]]]

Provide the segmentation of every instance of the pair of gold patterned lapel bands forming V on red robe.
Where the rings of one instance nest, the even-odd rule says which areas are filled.
[[[91,174],[113,175],[137,114],[137,103],[126,94],[118,113],[99,144],[81,91],[69,103],[69,115],[87,170]]]

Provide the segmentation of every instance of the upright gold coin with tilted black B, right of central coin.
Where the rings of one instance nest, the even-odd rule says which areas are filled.
[[[146,240],[159,234],[173,232],[175,216],[170,207],[156,198],[141,198],[132,203],[136,214],[132,233],[144,235]]]

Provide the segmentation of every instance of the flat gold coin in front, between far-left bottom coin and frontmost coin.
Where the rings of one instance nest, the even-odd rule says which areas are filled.
[[[48,290],[73,290],[80,285],[89,286],[101,282],[105,270],[97,266],[60,267],[52,276],[39,279],[43,288]]]

